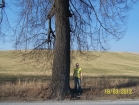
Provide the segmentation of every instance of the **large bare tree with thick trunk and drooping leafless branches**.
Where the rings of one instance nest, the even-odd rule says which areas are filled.
[[[16,27],[17,48],[32,49],[29,50],[30,54],[38,53],[35,56],[38,59],[44,59],[44,55],[49,58],[44,54],[45,51],[41,54],[39,49],[54,51],[49,97],[63,99],[70,90],[70,50],[106,50],[107,41],[123,37],[127,12],[134,2],[136,1],[16,1],[20,12]],[[47,62],[46,59],[44,62]]]

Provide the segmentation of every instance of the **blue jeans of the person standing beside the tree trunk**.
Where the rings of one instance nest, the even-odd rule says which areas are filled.
[[[76,93],[81,93],[81,78],[74,77],[74,90]]]

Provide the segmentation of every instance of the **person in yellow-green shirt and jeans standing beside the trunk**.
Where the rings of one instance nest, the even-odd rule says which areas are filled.
[[[83,78],[83,74],[82,69],[79,67],[78,63],[76,63],[76,68],[74,68],[73,78],[74,78],[74,90],[76,93],[81,94],[82,92],[81,80]]]

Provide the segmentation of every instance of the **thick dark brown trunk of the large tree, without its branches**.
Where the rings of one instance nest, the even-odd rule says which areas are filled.
[[[52,68],[53,96],[62,99],[70,90],[69,0],[55,0],[56,41]]]

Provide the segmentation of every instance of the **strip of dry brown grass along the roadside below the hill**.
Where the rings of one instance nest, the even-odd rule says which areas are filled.
[[[114,77],[85,77],[82,81],[83,93],[75,97],[72,93],[67,100],[109,100],[109,99],[137,99],[139,98],[138,78]],[[73,81],[70,81],[73,88]],[[41,80],[5,82],[0,85],[1,101],[39,101],[48,100],[49,82]],[[104,89],[131,89],[132,94],[105,94]],[[50,99],[49,99],[50,100]]]

